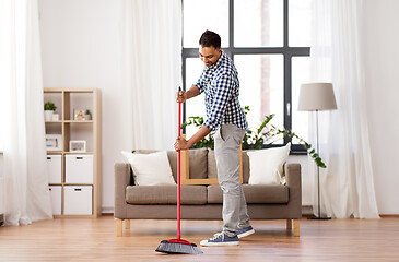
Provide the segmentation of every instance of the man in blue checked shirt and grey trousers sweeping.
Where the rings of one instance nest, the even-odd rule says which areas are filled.
[[[188,141],[177,138],[175,150],[190,148],[210,132],[215,131],[214,148],[219,184],[223,190],[223,231],[201,246],[238,245],[238,238],[255,233],[249,224],[247,203],[239,182],[239,146],[247,120],[238,102],[238,73],[233,61],[221,48],[216,33],[206,31],[199,40],[199,56],[204,63],[201,76],[187,92],[176,94],[177,102],[186,102],[206,94],[207,119]]]

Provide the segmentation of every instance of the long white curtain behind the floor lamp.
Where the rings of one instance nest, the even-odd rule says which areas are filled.
[[[366,118],[362,14],[362,0],[314,1],[312,81],[331,82],[338,104],[338,110],[319,114],[320,155],[327,165],[320,168],[321,214],[338,218],[379,217]],[[316,168],[309,170],[316,179]],[[317,214],[316,183],[314,191]]]

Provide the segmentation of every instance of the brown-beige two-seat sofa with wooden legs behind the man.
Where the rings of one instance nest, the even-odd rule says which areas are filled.
[[[141,151],[138,153],[151,153]],[[176,180],[177,154],[167,152]],[[300,236],[302,217],[301,165],[285,164],[286,184],[248,184],[249,158],[245,151],[243,159],[243,189],[251,219],[286,219],[286,229]],[[193,179],[216,178],[213,151],[189,151],[189,176]],[[176,219],[177,186],[134,186],[132,170],[127,163],[115,164],[115,212],[117,236],[130,228],[130,219]],[[223,193],[219,184],[181,186],[183,219],[222,219]]]

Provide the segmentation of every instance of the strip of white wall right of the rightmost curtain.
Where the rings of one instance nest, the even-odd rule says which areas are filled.
[[[399,1],[365,1],[366,95],[380,214],[399,214]]]

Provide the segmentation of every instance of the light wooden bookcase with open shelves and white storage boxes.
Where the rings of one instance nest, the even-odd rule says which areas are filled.
[[[52,172],[51,178],[59,178],[61,180],[51,180],[50,187],[59,187],[54,191],[54,198],[60,201],[60,215],[55,215],[55,217],[98,217],[102,212],[102,94],[97,88],[44,88],[44,99],[45,102],[52,102],[57,106],[56,112],[59,114],[58,121],[45,121],[46,134],[57,134],[61,136],[62,150],[58,151],[47,151],[47,155],[61,155],[60,160],[51,162],[49,157],[49,165]],[[92,120],[74,120],[75,114],[85,110],[92,112]],[[80,114],[79,114],[80,115]],[[85,141],[86,152],[70,152],[71,141]],[[67,182],[67,171],[71,170],[71,162],[69,158],[74,158],[74,155],[82,155],[82,158],[93,159],[92,169],[89,168],[89,172],[93,172],[93,180],[82,180],[82,183],[75,183],[79,180],[70,180]],[[69,163],[69,164],[68,164]],[[90,160],[91,163],[91,160]],[[81,163],[79,163],[80,165]],[[51,166],[52,165],[52,166]],[[77,168],[77,163],[73,163],[72,169]],[[68,170],[67,170],[68,169]],[[82,169],[79,169],[81,171]],[[58,175],[60,171],[60,175]],[[87,172],[84,172],[87,174]],[[69,176],[70,177],[70,176]],[[91,187],[92,193],[91,215],[72,215],[69,212],[71,202],[68,202],[68,207],[66,211],[66,189],[69,187]],[[69,192],[69,191],[68,191]],[[58,195],[59,194],[59,195]],[[86,195],[87,196],[87,195]],[[68,198],[71,198],[69,192]],[[77,198],[68,199],[68,201],[77,201]],[[80,204],[78,199],[77,203],[72,203],[73,206]],[[57,209],[56,209],[57,210]],[[66,215],[66,212],[68,215]],[[57,210],[58,213],[58,210]]]

